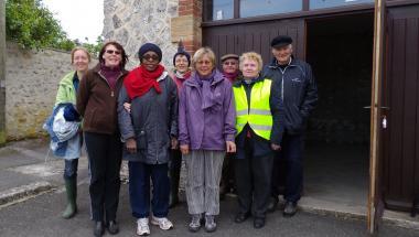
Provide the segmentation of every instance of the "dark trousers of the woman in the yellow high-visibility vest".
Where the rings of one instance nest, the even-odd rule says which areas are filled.
[[[255,157],[249,143],[238,148],[246,150],[246,158],[234,161],[239,212],[251,211],[254,217],[265,218],[270,197],[273,153]]]

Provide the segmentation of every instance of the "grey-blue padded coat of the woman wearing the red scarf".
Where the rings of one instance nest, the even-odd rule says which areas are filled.
[[[123,160],[148,164],[169,162],[170,140],[178,137],[178,89],[176,84],[164,72],[158,83],[162,90],[153,88],[141,97],[130,100],[126,87],[119,91],[118,122],[121,138],[137,140],[137,153],[129,153],[123,146]],[[131,114],[123,104],[131,104]]]

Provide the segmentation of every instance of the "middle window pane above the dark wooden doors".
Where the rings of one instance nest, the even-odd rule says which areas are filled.
[[[240,0],[240,18],[301,11],[301,0]]]

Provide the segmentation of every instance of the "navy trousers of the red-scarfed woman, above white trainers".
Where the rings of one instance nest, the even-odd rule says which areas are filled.
[[[132,216],[144,218],[150,215],[150,177],[153,184],[151,208],[155,217],[166,217],[169,213],[168,164],[146,164],[128,162],[129,197]]]

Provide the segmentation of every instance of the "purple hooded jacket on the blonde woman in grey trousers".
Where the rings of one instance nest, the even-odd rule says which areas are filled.
[[[217,69],[202,80],[197,73],[183,84],[179,101],[179,141],[191,150],[224,151],[236,134],[232,84]]]

